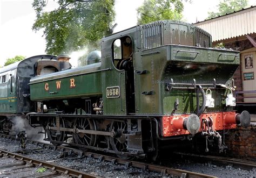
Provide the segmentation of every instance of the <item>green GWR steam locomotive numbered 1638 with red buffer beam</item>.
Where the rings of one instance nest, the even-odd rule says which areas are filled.
[[[112,34],[100,59],[30,80],[41,104],[30,124],[52,144],[72,137],[82,148],[155,159],[160,147],[193,137],[218,140],[221,150],[218,130],[250,123],[247,111],[233,110],[239,52],[211,48],[211,35],[194,25],[164,20]]]

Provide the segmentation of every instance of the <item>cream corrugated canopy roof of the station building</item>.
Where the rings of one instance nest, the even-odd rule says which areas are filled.
[[[194,25],[212,35],[212,41],[239,37],[256,32],[256,6],[232,12]]]

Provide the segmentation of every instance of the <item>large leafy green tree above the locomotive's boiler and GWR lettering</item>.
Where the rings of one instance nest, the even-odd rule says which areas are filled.
[[[44,11],[45,0],[34,0],[36,21],[32,29],[44,30],[45,52],[68,54],[85,46],[97,47],[104,35],[112,33],[114,0],[58,0],[58,8]]]

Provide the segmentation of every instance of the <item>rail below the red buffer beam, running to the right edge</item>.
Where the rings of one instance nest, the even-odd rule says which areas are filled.
[[[173,152],[176,155],[180,155],[183,158],[196,158],[198,160],[211,160],[221,163],[228,163],[229,165],[232,165],[235,168],[241,168],[246,170],[252,170],[256,168],[256,162],[254,161],[248,161],[248,160],[242,160],[237,158],[228,158],[223,156],[212,156],[212,155],[200,155],[200,154],[193,154],[193,153],[183,153],[183,152]]]

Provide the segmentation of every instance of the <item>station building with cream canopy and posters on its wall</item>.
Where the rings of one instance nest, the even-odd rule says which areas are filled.
[[[240,67],[234,74],[239,106],[256,106],[256,6],[194,25],[212,35],[212,46],[221,42],[225,48],[240,51]]]

